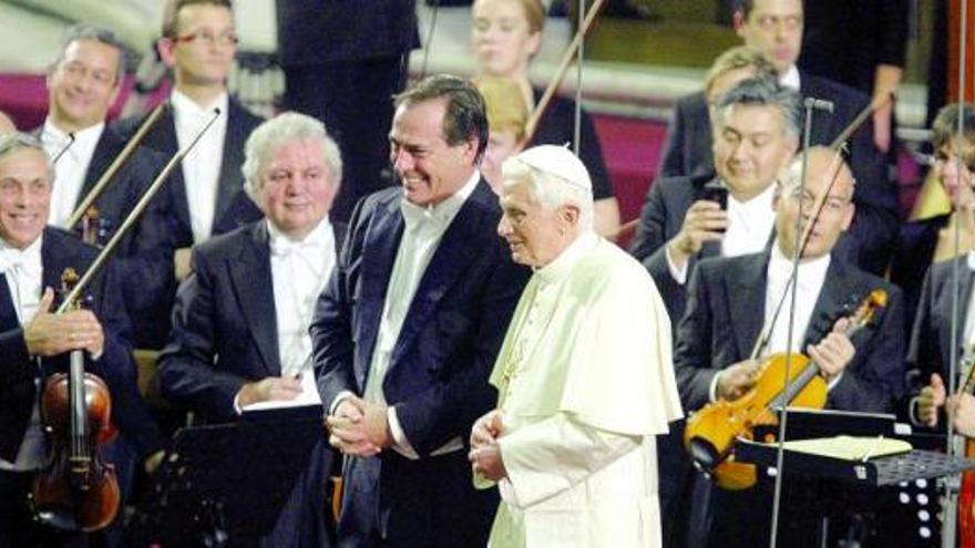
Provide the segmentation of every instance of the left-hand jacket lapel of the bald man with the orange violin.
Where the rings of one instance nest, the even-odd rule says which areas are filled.
[[[740,267],[732,271],[731,279],[726,278],[725,307],[729,312],[728,319],[735,327],[738,356],[742,360],[751,355],[764,323],[768,262],[767,252],[748,256],[747,259],[742,259]],[[741,314],[740,318],[731,316],[742,310],[755,313]]]

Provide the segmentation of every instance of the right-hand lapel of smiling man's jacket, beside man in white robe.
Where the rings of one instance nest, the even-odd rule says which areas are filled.
[[[485,193],[490,196],[485,196]],[[400,337],[393,348],[390,358],[390,368],[402,358],[409,349],[420,329],[427,324],[428,319],[437,310],[440,299],[454,283],[463,279],[463,270],[468,263],[476,257],[480,246],[476,241],[484,238],[481,232],[484,215],[482,201],[493,198],[493,194],[483,180],[478,183],[474,192],[458,211],[450,227],[443,234],[440,245],[430,259],[430,265],[423,271],[410,310],[407,312],[408,320],[403,322]],[[490,232],[489,232],[490,234]]]

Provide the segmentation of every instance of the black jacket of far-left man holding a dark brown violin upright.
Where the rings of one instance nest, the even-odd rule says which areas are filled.
[[[98,255],[98,249],[81,242],[74,236],[45,228],[41,244],[43,285],[61,287],[64,268],[83,273]],[[6,276],[0,275],[6,281]],[[102,324],[105,343],[98,361],[85,360],[85,369],[101,376],[112,395],[112,421],[122,435],[145,456],[163,446],[163,437],[148,414],[138,393],[136,365],[129,344],[129,319],[122,306],[117,272],[109,263],[91,283],[91,310]],[[6,283],[0,283],[0,457],[12,462],[23,441],[30,422],[37,392],[35,379],[47,379],[55,372],[68,371],[68,354],[31,359],[23,340],[23,329]]]

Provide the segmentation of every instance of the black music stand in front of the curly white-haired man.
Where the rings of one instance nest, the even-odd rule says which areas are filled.
[[[316,443],[322,407],[245,412],[181,428],[130,524],[135,546],[240,546],[274,527]]]

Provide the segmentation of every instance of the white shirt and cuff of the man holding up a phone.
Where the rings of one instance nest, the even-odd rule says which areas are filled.
[[[774,196],[774,184],[769,185],[761,194],[748,201],[739,201],[730,193],[728,194],[728,229],[721,237],[721,257],[757,254],[766,248],[776,227],[776,211],[772,210]],[[664,247],[664,254],[674,280],[681,286],[687,283],[689,261],[685,261],[684,266],[678,268],[670,259],[669,247]]]

